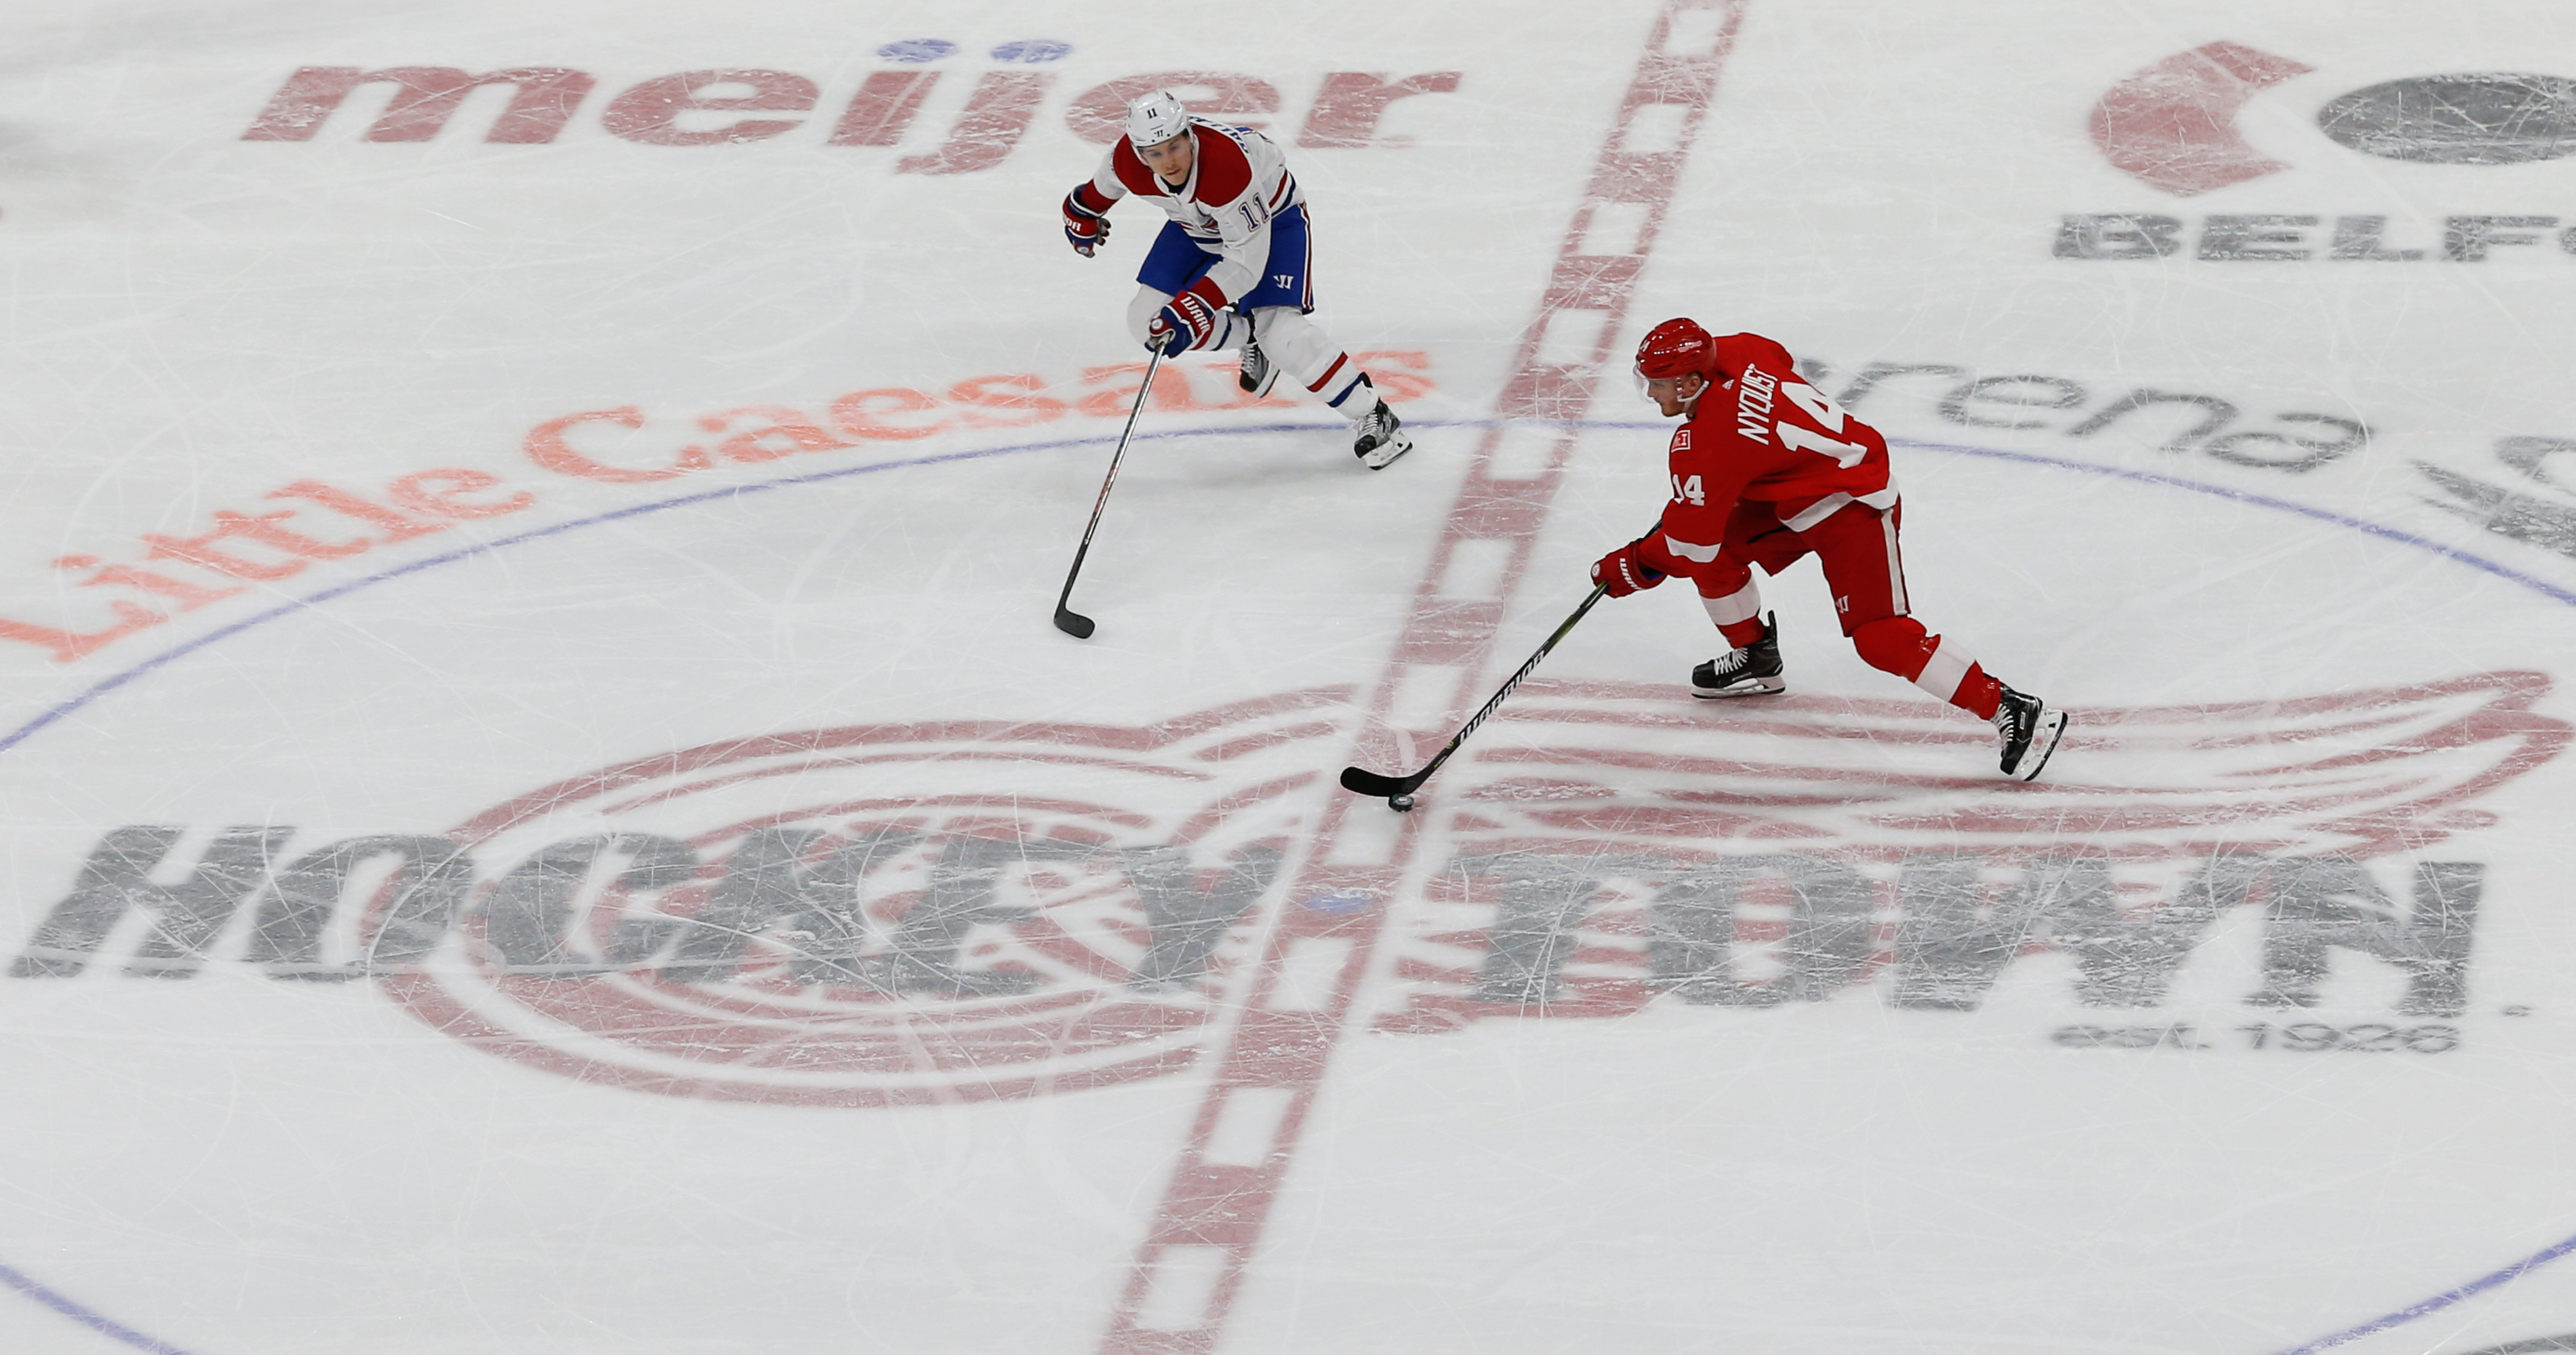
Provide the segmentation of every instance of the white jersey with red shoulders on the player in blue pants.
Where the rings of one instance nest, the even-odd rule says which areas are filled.
[[[1270,265],[1270,219],[1303,204],[1306,196],[1270,137],[1198,116],[1190,118],[1190,137],[1198,149],[1190,180],[1180,188],[1162,183],[1136,157],[1136,147],[1118,137],[1118,144],[1100,157],[1100,173],[1074,196],[1092,211],[1108,211],[1128,193],[1154,198],[1200,250],[1218,255],[1208,283],[1234,301],[1260,286]]]

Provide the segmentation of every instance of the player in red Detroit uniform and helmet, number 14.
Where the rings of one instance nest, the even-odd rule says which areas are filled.
[[[1814,554],[1834,590],[1852,649],[1878,670],[1994,721],[2004,775],[2048,765],[2066,714],[1986,675],[1955,641],[1911,616],[1896,526],[1904,507],[1888,443],[1808,386],[1788,348],[1762,335],[1721,335],[1690,319],[1656,325],[1636,348],[1636,374],[1672,433],[1672,500],[1646,536],[1592,564],[1610,598],[1687,574],[1731,647],[1690,675],[1690,693],[1770,696],[1780,631],[1762,616],[1754,569],[1777,574]]]

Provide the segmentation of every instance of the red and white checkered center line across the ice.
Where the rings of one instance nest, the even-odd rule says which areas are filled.
[[[1571,425],[1584,417],[1607,371],[1610,345],[1708,118],[1744,5],[1664,0],[1556,247],[1538,314],[1520,335],[1512,379],[1494,402],[1499,420],[1476,446],[1414,590],[1404,636],[1370,693],[1370,732],[1409,719],[1399,714],[1399,693],[1445,693],[1448,711],[1471,711],[1484,701],[1494,631],[1556,502],[1574,453]],[[1574,582],[1566,580],[1569,592]],[[1363,734],[1360,752],[1419,760],[1445,739],[1448,729]],[[1378,801],[1358,796],[1332,793],[1324,801],[1314,845],[1288,886],[1260,969],[1244,984],[1234,1028],[1213,1056],[1208,1095],[1128,1267],[1100,1355],[1216,1350],[1430,817],[1406,814],[1391,835],[1383,824],[1345,835],[1352,806],[1386,814]]]

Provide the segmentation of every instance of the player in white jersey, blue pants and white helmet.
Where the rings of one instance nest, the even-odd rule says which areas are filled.
[[[1270,394],[1280,376],[1303,386],[1350,420],[1352,453],[1368,469],[1414,448],[1360,363],[1309,319],[1306,193],[1270,137],[1193,118],[1170,90],[1154,90],[1128,103],[1126,137],[1100,173],[1064,196],[1074,252],[1092,258],[1110,237],[1108,209],[1128,193],[1170,216],[1128,301],[1139,343],[1167,358],[1239,348],[1247,392]]]

